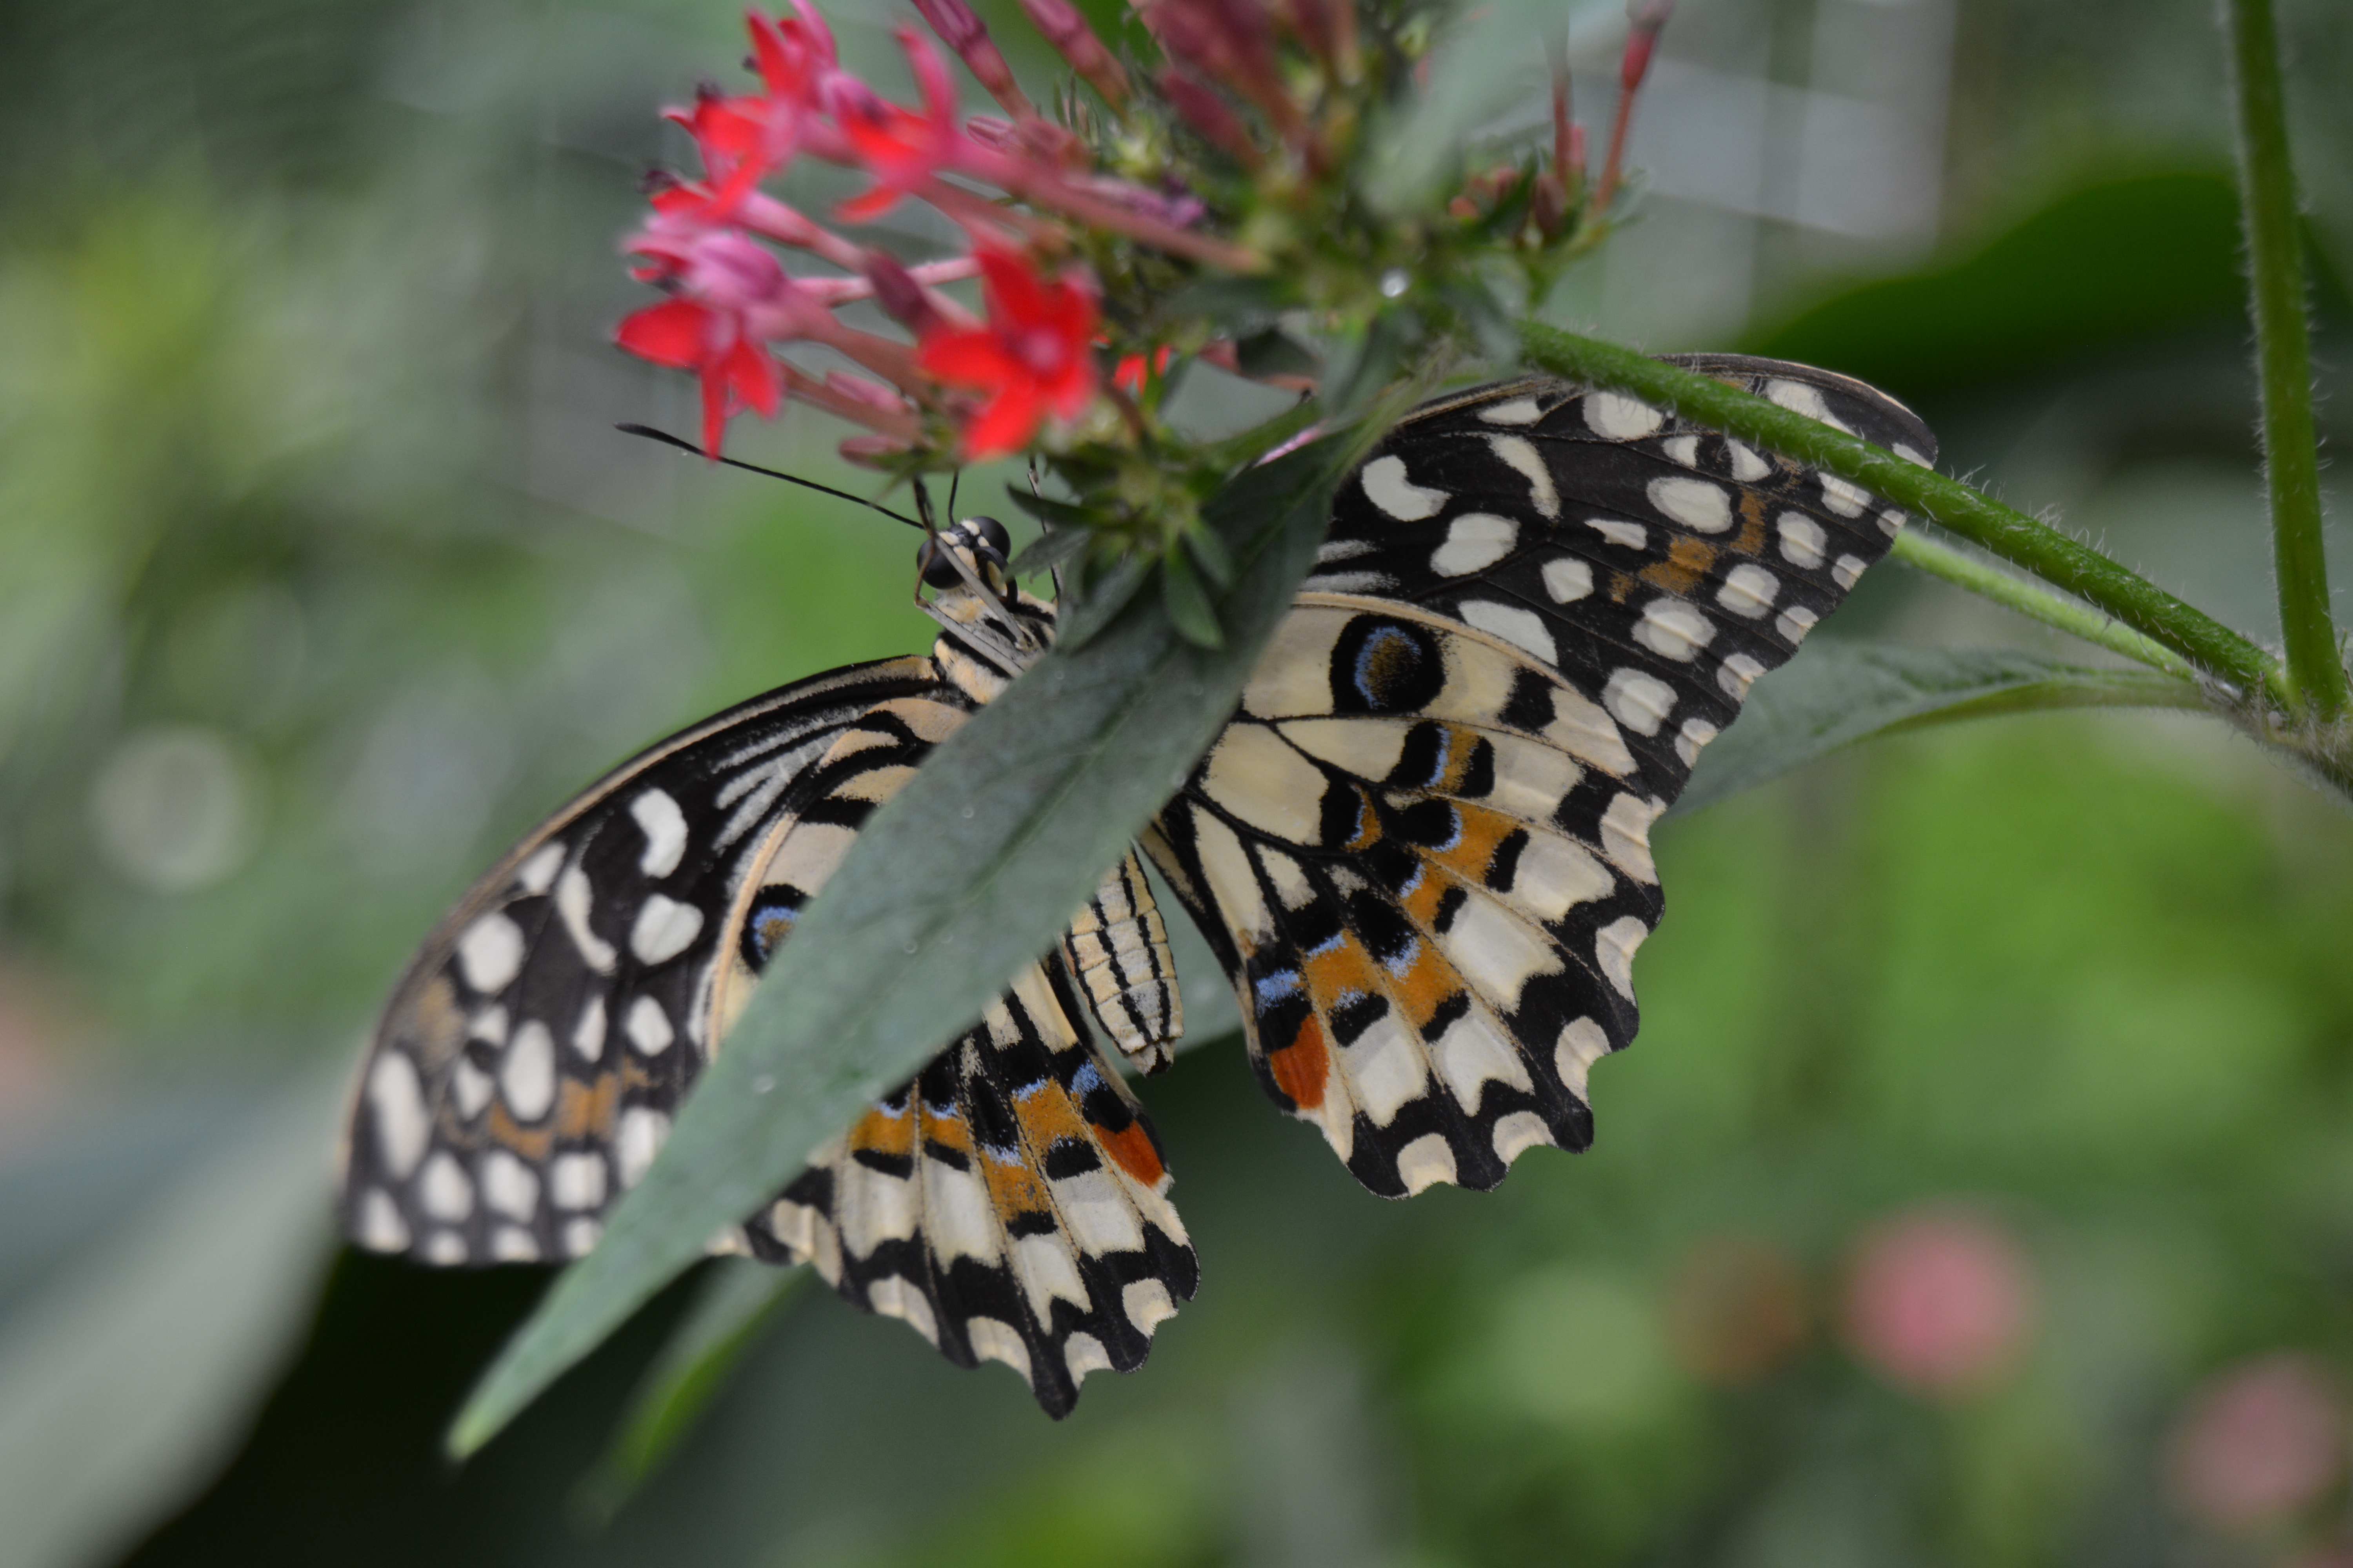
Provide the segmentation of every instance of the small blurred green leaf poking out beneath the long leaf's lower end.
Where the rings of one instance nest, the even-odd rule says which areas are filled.
[[[612,1446],[572,1493],[581,1523],[605,1526],[671,1455],[727,1373],[809,1284],[809,1269],[718,1258],[694,1305],[638,1380]]]

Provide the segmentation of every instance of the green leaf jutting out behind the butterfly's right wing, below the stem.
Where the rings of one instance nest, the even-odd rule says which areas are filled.
[[[1748,693],[1732,729],[1708,743],[1668,816],[1713,806],[1899,729],[2047,708],[2207,710],[2198,686],[2153,670],[2094,670],[2017,649],[1915,649],[1817,642]]]

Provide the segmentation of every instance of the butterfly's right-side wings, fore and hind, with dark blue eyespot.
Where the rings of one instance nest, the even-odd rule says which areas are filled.
[[[1927,461],[1842,376],[1685,360]],[[1529,378],[1402,423],[1334,503],[1235,722],[1146,849],[1233,978],[1266,1091],[1369,1190],[1591,1143],[1659,922],[1649,825],[1901,515],[1614,393]]]

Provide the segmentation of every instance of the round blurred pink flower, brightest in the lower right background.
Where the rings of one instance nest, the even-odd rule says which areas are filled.
[[[1873,1371],[1927,1396],[1955,1396],[2007,1373],[2026,1345],[2033,1286],[1993,1220],[1922,1208],[1873,1229],[1847,1279],[1845,1328]]]

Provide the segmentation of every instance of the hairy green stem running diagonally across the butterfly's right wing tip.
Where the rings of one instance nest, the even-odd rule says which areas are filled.
[[[1967,484],[1946,480],[1932,468],[1906,463],[1892,451],[1805,414],[1751,397],[1713,376],[1664,364],[1621,343],[1560,331],[1541,322],[1520,322],[1520,350],[1529,362],[1567,381],[1633,393],[1755,447],[1769,447],[1842,480],[1854,480],[1875,496],[1922,512],[1969,543],[2097,604],[2247,696],[2257,691],[2268,691],[2273,701],[2287,696],[2280,663],[2231,628],[2118,567],[2106,555],[2087,550],[2066,534]]]

